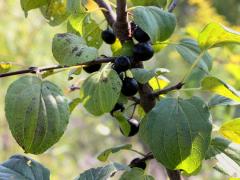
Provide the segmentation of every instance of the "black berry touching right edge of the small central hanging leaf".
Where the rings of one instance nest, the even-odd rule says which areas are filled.
[[[138,92],[138,83],[135,79],[125,77],[123,79],[122,94],[125,96],[133,96]]]

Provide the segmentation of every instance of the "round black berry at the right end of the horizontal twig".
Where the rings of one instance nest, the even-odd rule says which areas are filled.
[[[131,61],[127,56],[120,56],[114,62],[114,69],[117,72],[124,72],[131,68]]]

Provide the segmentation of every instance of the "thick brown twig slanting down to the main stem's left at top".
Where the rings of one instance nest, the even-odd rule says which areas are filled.
[[[98,6],[100,8],[103,8],[104,10],[102,10],[108,24],[110,26],[113,26],[113,24],[115,23],[116,21],[116,15],[114,14],[113,10],[112,10],[112,7],[107,4],[104,0],[94,0]]]

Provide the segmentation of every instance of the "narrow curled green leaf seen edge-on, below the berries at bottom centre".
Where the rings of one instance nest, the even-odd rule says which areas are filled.
[[[117,152],[119,152],[121,150],[129,150],[131,148],[132,148],[131,144],[123,144],[123,145],[115,146],[115,147],[112,147],[112,148],[104,150],[103,152],[101,152],[98,155],[97,158],[98,158],[99,161],[106,162],[108,160],[108,157],[111,154],[117,153]]]

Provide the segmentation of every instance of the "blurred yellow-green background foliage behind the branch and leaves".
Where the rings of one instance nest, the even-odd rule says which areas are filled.
[[[171,38],[172,42],[177,42],[183,37],[196,38],[198,32],[209,22],[220,22],[240,31],[239,0],[182,0],[175,13],[178,28]],[[51,41],[55,33],[65,31],[66,24],[51,27],[38,10],[31,11],[28,18],[25,18],[19,0],[0,0],[0,62],[13,62],[17,65],[14,66],[16,69],[56,64],[51,54]],[[102,52],[104,51],[109,54],[109,47],[104,46]],[[211,74],[240,89],[240,47],[217,48],[210,53],[214,61]],[[155,59],[147,64],[147,68],[168,68],[171,73],[167,78],[172,83],[177,82],[190,67],[172,46],[156,54]],[[86,74],[81,75],[78,81],[85,77]],[[6,90],[16,78],[0,79],[0,162],[13,154],[23,154],[11,136],[4,115]],[[56,74],[49,79],[62,87],[69,98],[77,96],[77,92],[70,94],[68,91],[73,82],[67,80],[67,72]],[[191,85],[197,86],[195,83]],[[206,100],[211,97],[209,94],[200,95]],[[214,108],[212,113],[214,122],[220,124],[233,117],[239,117],[240,109],[237,106],[218,107]],[[71,116],[67,131],[56,145],[42,155],[28,156],[48,167],[52,180],[70,180],[88,168],[103,165],[96,159],[97,154],[105,148],[123,143],[132,143],[135,149],[143,151],[137,137],[128,139],[121,135],[116,121],[111,116],[94,117],[79,106]],[[110,160],[128,164],[137,156],[135,153],[123,151],[112,156]],[[156,162],[152,161],[148,169],[156,179],[165,178],[161,175],[164,171]],[[200,174],[189,179],[221,180],[227,177],[212,170],[211,164],[204,163]]]

